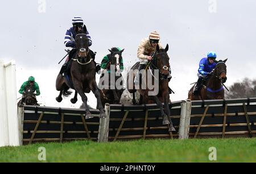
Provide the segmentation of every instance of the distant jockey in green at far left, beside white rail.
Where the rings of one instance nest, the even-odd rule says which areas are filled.
[[[19,93],[23,94],[22,100],[20,102],[20,105],[24,105],[24,101],[25,101],[25,98],[26,98],[26,88],[28,86],[30,86],[30,85],[33,85],[32,86],[33,93],[36,91],[35,96],[39,96],[40,95],[39,86],[38,86],[38,83],[35,82],[35,77],[30,76],[30,77],[28,77],[28,81],[23,82],[22,86],[19,89]]]

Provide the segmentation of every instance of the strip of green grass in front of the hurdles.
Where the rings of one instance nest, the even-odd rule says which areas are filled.
[[[1,147],[0,162],[40,162],[39,147],[47,162],[212,162],[209,147],[217,148],[217,162],[256,162],[256,138],[37,143]]]

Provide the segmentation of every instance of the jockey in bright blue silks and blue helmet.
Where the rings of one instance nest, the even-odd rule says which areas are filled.
[[[193,90],[193,95],[198,95],[201,86],[203,86],[203,81],[205,78],[208,77],[208,74],[213,71],[213,69],[216,67],[216,63],[214,60],[216,59],[217,55],[215,52],[210,51],[207,54],[207,57],[204,57],[203,59],[200,60],[199,63],[199,69],[197,76],[199,77],[196,86]]]

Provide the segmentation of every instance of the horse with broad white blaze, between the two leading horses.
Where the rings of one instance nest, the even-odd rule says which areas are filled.
[[[123,50],[124,49],[119,51],[118,48],[115,48],[115,47],[109,49],[110,54],[107,55],[109,59],[109,63],[106,69],[104,69],[104,72],[102,72],[101,74],[101,80],[99,84],[99,85],[104,85],[104,81],[108,81],[108,88],[100,90],[101,102],[103,106],[105,105],[105,103],[119,104],[120,102],[120,98],[124,90],[122,88],[123,86],[122,73],[120,72],[120,63],[122,61]],[[105,76],[106,74],[108,76]],[[113,77],[114,77],[114,80],[111,82]],[[104,81],[101,83],[102,80]],[[116,86],[116,83],[120,86]]]

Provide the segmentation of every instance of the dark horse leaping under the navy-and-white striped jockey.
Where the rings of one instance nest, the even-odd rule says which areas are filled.
[[[69,96],[71,92],[69,92],[68,89],[72,88],[75,90],[75,97],[71,99],[71,102],[75,103],[77,101],[77,93],[79,93],[82,98],[82,102],[84,102],[85,105],[85,118],[92,118],[92,114],[90,113],[87,105],[87,97],[85,95],[85,93],[89,93],[92,90],[97,98],[100,118],[105,118],[106,114],[101,104],[100,92],[98,91],[96,84],[96,67],[92,57],[89,54],[88,38],[86,37],[85,33],[86,28],[84,27],[82,33],[76,35],[75,42],[77,51],[73,58],[70,57],[70,59],[72,58],[70,78],[73,86],[70,85],[71,83],[68,82],[66,78],[64,78],[61,74],[58,74],[56,79],[56,90],[60,91],[60,94],[58,97],[56,97],[56,101],[61,102],[62,95]]]

